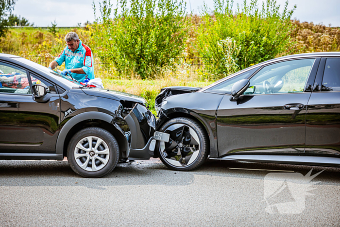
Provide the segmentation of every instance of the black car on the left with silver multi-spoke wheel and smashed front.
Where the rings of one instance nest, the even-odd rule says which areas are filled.
[[[164,136],[155,133],[155,122],[139,96],[84,87],[25,58],[0,54],[0,159],[68,157],[77,174],[100,177],[119,160],[153,157],[153,136]]]

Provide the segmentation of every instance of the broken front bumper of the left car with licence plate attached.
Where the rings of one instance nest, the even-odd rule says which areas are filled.
[[[124,120],[129,125],[131,133],[128,158],[138,160],[153,157],[156,140],[162,138],[159,132],[155,134],[156,118],[154,115],[145,106],[136,104]]]

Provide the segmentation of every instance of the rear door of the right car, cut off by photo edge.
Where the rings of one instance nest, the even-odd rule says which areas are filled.
[[[322,58],[306,114],[306,155],[340,156],[340,58]]]

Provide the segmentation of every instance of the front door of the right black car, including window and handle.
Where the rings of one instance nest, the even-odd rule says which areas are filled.
[[[264,66],[236,102],[225,95],[217,111],[220,157],[232,153],[303,154],[306,105],[320,58]]]

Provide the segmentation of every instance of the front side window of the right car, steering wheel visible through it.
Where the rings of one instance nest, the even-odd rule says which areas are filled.
[[[250,79],[252,93],[277,94],[303,92],[314,61],[314,58],[299,59],[263,67]],[[246,90],[245,93],[247,93],[248,90]]]

